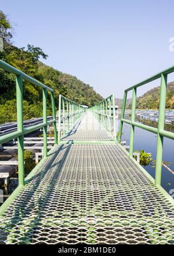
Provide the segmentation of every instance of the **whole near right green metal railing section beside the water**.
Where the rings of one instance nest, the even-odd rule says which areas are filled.
[[[161,171],[162,171],[162,151],[163,151],[163,141],[164,137],[169,139],[174,139],[174,133],[168,132],[164,130],[164,121],[165,121],[165,101],[166,101],[166,89],[167,89],[167,76],[169,73],[174,72],[174,66],[165,71],[158,73],[157,75],[152,76],[144,80],[137,85],[129,87],[124,92],[124,99],[122,103],[122,111],[121,111],[121,121],[119,125],[119,135],[118,142],[121,142],[122,135],[122,127],[124,122],[131,125],[131,136],[130,136],[130,151],[129,155],[133,156],[133,142],[135,135],[135,127],[139,127],[145,129],[146,131],[153,132],[157,134],[157,155],[156,155],[156,167],[155,167],[155,184],[161,185]],[[135,122],[135,111],[136,111],[136,89],[146,83],[152,82],[161,78],[161,87],[160,87],[160,107],[159,107],[159,118],[158,118],[158,128],[150,127],[148,125],[140,124],[139,122]],[[127,93],[132,90],[132,115],[131,120],[126,120],[125,116],[125,108],[126,108],[126,97]]]

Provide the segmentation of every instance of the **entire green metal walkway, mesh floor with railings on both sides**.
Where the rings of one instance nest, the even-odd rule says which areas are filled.
[[[1,136],[0,143],[18,138],[19,187],[0,208],[0,243],[3,240],[14,244],[100,244],[101,241],[172,244],[174,201],[160,186],[163,138],[174,139],[172,132],[164,131],[167,72],[161,73],[158,129],[135,122],[136,88],[140,85],[131,87],[132,117],[131,121],[125,120],[126,94],[129,89],[125,90],[118,142],[121,142],[123,123],[130,124],[129,156],[115,141],[114,94],[88,111],[60,95],[59,145],[47,152],[48,124],[53,124],[57,143],[53,90],[31,79],[32,83],[43,88],[43,122],[24,129],[23,79],[30,77],[6,64],[4,69],[16,74],[17,131]],[[174,68],[168,72],[171,70]],[[51,92],[53,113],[53,120],[50,121],[46,120],[48,91]],[[112,123],[114,138],[107,132],[108,121]],[[132,157],[135,127],[158,136],[155,181]],[[23,136],[38,128],[44,129],[44,158],[24,180]],[[61,132],[65,136],[62,137]],[[66,136],[74,139],[66,141]],[[93,189],[95,187],[97,190]]]

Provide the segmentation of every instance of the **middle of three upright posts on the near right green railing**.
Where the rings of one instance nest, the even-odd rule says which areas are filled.
[[[130,135],[130,150],[129,156],[133,156],[133,142],[134,142],[134,131],[135,126],[132,122],[135,122],[135,111],[136,111],[136,88],[132,89],[132,114],[131,114],[131,135]]]

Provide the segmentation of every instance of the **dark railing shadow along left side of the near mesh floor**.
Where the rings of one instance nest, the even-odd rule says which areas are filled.
[[[49,199],[70,149],[69,144],[60,145],[30,178],[3,216],[3,223],[0,220],[0,243],[5,243],[5,239],[7,243],[33,243],[34,234],[43,228],[43,222],[46,223],[47,219],[52,218],[53,209],[50,208]],[[45,209],[50,210],[49,215],[45,216]]]

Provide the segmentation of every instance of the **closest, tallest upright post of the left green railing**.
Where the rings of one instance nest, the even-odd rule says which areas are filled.
[[[23,76],[16,76],[17,131],[23,133]],[[24,185],[24,135],[17,137],[19,185]]]

